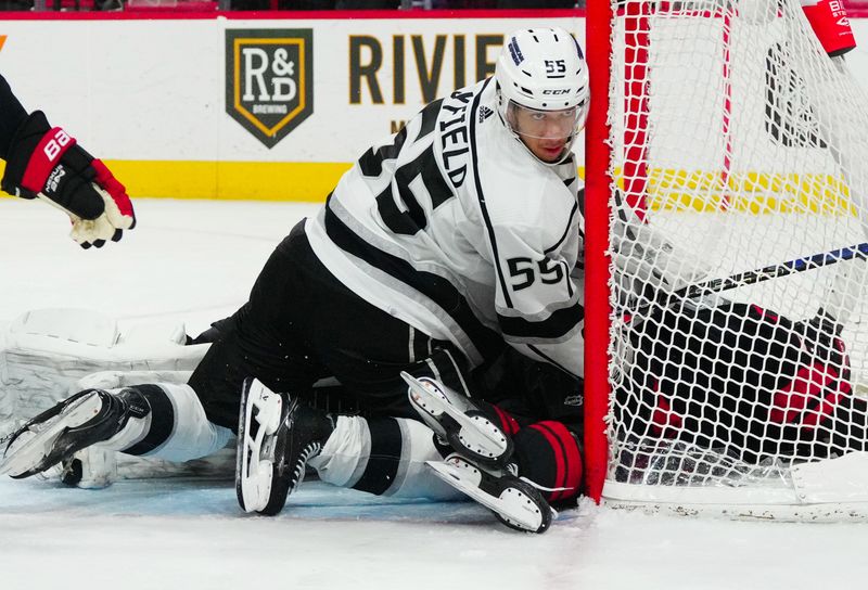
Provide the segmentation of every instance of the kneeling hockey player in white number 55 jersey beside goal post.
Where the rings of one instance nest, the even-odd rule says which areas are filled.
[[[558,403],[578,399],[571,146],[587,107],[572,35],[508,36],[494,77],[365,152],[292,230],[188,385],[78,394],[18,431],[0,472],[24,477],[93,444],[193,459],[238,428],[247,511],[279,512],[312,466],[371,493],[460,490],[509,526],[545,531],[547,500],[580,492],[577,437],[547,420],[557,415],[486,401],[503,397],[505,381],[483,375],[511,347],[560,375],[549,381]],[[310,407],[323,377],[366,418]]]

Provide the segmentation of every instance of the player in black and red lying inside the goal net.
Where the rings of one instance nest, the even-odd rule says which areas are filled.
[[[681,449],[750,470],[868,450],[868,400],[854,392],[842,337],[864,298],[864,257],[838,261],[821,279],[824,307],[793,320],[728,299],[738,280],[701,281],[702,261],[673,251],[623,203],[613,228],[616,346],[626,359],[613,435],[636,451],[622,461],[677,461]]]

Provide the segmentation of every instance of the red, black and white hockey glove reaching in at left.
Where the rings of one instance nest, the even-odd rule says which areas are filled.
[[[60,127],[35,111],[12,139],[0,188],[23,198],[42,198],[64,210],[69,233],[84,248],[117,242],[136,227],[124,185]]]

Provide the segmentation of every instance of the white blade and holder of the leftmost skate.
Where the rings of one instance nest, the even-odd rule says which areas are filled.
[[[54,439],[64,429],[80,426],[99,414],[101,409],[102,400],[97,392],[74,401],[53,422],[31,436],[29,440],[17,448],[10,449],[7,447],[5,452],[8,454],[0,461],[0,475],[15,477],[33,470],[47,457],[46,449],[50,449],[54,444]],[[14,441],[12,445],[14,445]]]

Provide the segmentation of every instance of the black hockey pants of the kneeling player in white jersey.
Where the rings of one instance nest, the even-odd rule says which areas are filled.
[[[448,386],[469,384],[467,361],[450,343],[416,331],[337,281],[314,254],[302,221],[271,254],[250,300],[220,322],[189,383],[208,420],[232,429],[248,376],[302,396],[318,380],[335,377],[368,414],[417,418],[399,373],[432,374],[432,363]]]

